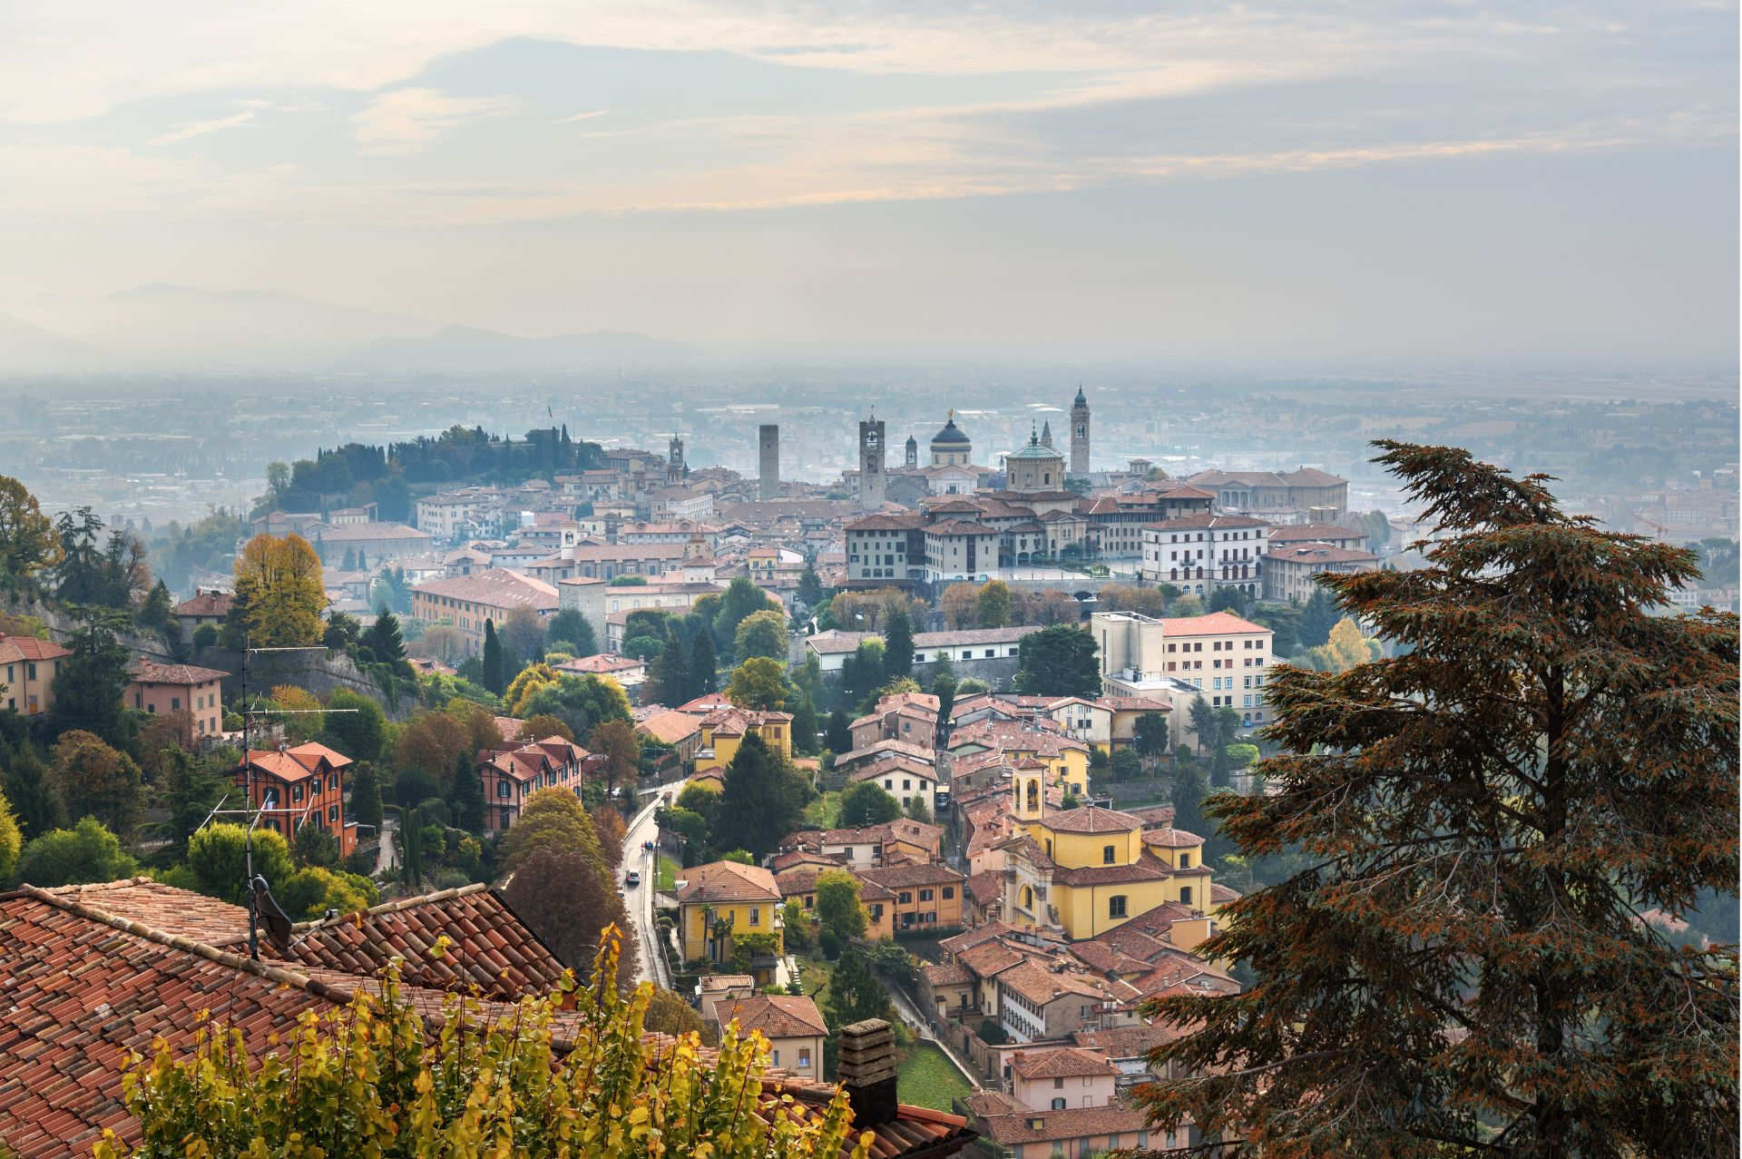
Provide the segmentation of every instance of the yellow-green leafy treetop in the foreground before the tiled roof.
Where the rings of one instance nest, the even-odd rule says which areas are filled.
[[[765,1039],[718,1058],[702,1054],[693,1011],[653,988],[624,997],[622,931],[599,936],[591,979],[519,1009],[476,1018],[453,995],[439,1016],[413,1006],[397,971],[357,986],[348,1007],[298,1027],[294,1061],[268,1051],[256,1028],[211,1034],[188,1054],[159,1042],[125,1081],[139,1145],[113,1136],[99,1159],[202,1156],[434,1156],[502,1154],[528,1159],[584,1154],[641,1156],[845,1154],[852,1112],[845,1091],[793,1114],[744,1091],[761,1091]],[[667,993],[667,997],[658,997]],[[653,1016],[643,1020],[643,1011]],[[476,1032],[453,1034],[467,1023]],[[573,1035],[559,1049],[552,1028]],[[441,1027],[441,1030],[437,1030]],[[643,1028],[678,1030],[676,1042]],[[273,1039],[275,1040],[275,1039]],[[261,1063],[260,1060],[265,1058]],[[246,1091],[239,1098],[237,1091]],[[669,1100],[681,1093],[683,1107]]]

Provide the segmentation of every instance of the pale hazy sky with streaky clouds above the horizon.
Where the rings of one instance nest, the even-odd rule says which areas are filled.
[[[1733,3],[12,0],[0,314],[1733,359]]]

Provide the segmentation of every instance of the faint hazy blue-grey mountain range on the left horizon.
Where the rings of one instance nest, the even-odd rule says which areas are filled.
[[[150,284],[73,312],[59,333],[0,315],[0,378],[101,371],[563,373],[678,363],[697,350],[645,335],[524,338],[260,289]]]

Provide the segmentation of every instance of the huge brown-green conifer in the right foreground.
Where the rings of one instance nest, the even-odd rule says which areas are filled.
[[[1258,985],[1162,1000],[1195,1077],[1139,1098],[1266,1154],[1733,1154],[1735,948],[1639,915],[1735,908],[1737,617],[1648,615],[1693,558],[1542,476],[1378,446],[1442,539],[1324,582],[1406,655],[1272,678],[1270,791],[1211,810],[1306,864],[1221,912]]]

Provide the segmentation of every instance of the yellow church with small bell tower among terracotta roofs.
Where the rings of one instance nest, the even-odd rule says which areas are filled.
[[[1094,805],[1049,812],[1043,779],[1036,767],[1010,779],[1019,833],[1003,844],[1003,920],[1082,941],[1171,903],[1181,948],[1202,941],[1218,906],[1204,838]]]

